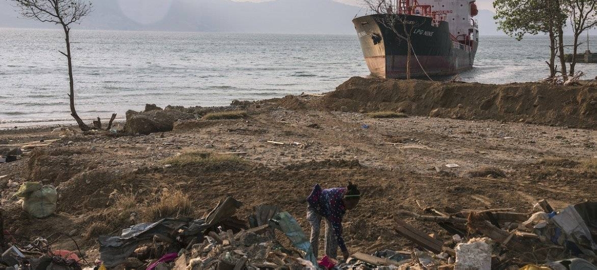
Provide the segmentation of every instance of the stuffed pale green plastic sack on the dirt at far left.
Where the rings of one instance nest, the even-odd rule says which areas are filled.
[[[23,210],[38,219],[48,217],[56,211],[58,193],[54,186],[25,182],[20,186],[16,196],[23,200]]]

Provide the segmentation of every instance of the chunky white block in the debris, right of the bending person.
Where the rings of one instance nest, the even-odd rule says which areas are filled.
[[[491,270],[491,246],[488,238],[473,238],[469,243],[457,244],[454,270]]]

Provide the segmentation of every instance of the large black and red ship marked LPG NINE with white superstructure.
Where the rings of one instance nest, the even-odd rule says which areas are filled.
[[[472,68],[479,43],[475,1],[389,1],[384,12],[352,21],[371,75],[407,78],[407,66],[410,78],[455,75]]]

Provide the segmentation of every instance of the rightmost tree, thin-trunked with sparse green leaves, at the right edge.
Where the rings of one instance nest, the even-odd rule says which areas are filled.
[[[578,38],[586,30],[597,26],[597,1],[595,0],[565,0],[564,9],[568,11],[570,24],[574,32],[574,44],[572,61],[570,63],[569,76],[574,76],[574,68],[577,63]]]

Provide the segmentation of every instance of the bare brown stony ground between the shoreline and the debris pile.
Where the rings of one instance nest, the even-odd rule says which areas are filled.
[[[278,204],[308,233],[306,205],[296,199],[308,195],[315,183],[326,188],[351,180],[364,197],[346,214],[344,237],[351,251],[371,252],[413,246],[393,231],[396,218],[447,237],[433,223],[396,214],[420,212],[417,200],[439,208],[528,212],[543,198],[561,208],[597,194],[597,172],[590,165],[597,158],[595,130],[422,116],[373,119],[353,112],[289,111],[273,102],[252,105],[248,112],[246,119],[186,122],[163,135],[60,138],[44,128],[1,131],[0,144],[60,138],[17,162],[0,164],[5,226],[26,238],[72,233],[93,260],[97,235],[134,224],[118,215],[122,209],[115,212],[110,194],[129,192],[141,202],[167,188],[189,195],[197,215],[226,195],[244,202],[241,218],[257,205]],[[164,161],[193,149],[246,152],[240,155],[246,163],[170,167]],[[470,175],[487,166],[506,177]],[[41,180],[57,186],[59,207],[54,216],[38,220],[10,198],[17,186],[8,183]],[[98,223],[103,231],[94,231]],[[57,245],[75,249],[67,238]]]

